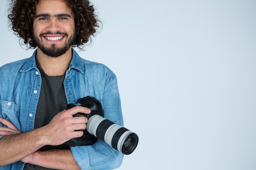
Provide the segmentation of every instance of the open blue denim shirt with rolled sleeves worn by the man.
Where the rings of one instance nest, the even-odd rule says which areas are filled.
[[[84,60],[76,51],[72,51],[72,61],[64,80],[67,102],[75,103],[79,98],[94,96],[101,102],[105,118],[123,126],[115,74],[105,65]],[[0,117],[11,121],[21,132],[34,129],[41,87],[35,55],[36,51],[30,58],[0,67]],[[0,123],[0,126],[3,125]],[[92,146],[76,146],[70,149],[82,170],[117,168],[124,157],[121,152],[101,140]],[[0,170],[22,170],[24,164],[18,161],[0,167]]]

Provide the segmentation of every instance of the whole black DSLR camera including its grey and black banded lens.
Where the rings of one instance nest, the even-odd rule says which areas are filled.
[[[78,99],[75,104],[68,104],[66,109],[70,109],[74,106],[87,107],[91,110],[91,113],[76,113],[73,115],[73,117],[87,117],[88,122],[86,129],[83,130],[84,133],[82,137],[70,139],[65,142],[65,144],[69,146],[92,145],[97,141],[97,138],[99,138],[125,155],[129,155],[135,150],[139,142],[137,134],[103,118],[104,110],[101,106],[101,102],[95,97],[87,96]]]

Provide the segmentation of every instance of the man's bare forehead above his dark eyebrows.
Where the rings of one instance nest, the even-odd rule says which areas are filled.
[[[67,6],[65,0],[39,0],[36,4],[36,15],[40,13],[57,14],[67,13],[73,16],[72,10]]]

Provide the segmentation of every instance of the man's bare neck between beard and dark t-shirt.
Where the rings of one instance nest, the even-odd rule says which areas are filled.
[[[48,76],[64,75],[72,60],[72,49],[59,57],[49,57],[37,49],[36,59]]]

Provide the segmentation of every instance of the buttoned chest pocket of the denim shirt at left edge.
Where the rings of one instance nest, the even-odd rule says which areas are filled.
[[[20,130],[20,121],[18,119],[20,113],[20,104],[14,102],[0,100],[0,117],[11,121],[11,123]]]

